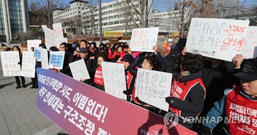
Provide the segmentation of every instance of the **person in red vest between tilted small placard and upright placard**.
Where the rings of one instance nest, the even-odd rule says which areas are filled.
[[[101,62],[108,62],[107,53],[99,52],[97,54],[96,59],[95,59],[95,56],[90,57],[87,67],[88,67],[88,72],[93,72],[95,76],[92,86],[102,91],[105,91]]]

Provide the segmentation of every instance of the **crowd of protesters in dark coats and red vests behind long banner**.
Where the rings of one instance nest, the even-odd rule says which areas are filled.
[[[127,102],[131,102],[162,116],[167,112],[148,103],[144,103],[135,96],[137,69],[143,68],[173,73],[171,76],[173,80],[171,83],[171,96],[163,100],[169,103],[169,111],[178,115],[178,124],[203,134],[210,134],[209,130],[211,129],[212,134],[235,132],[231,131],[232,129],[234,130],[234,128],[231,128],[231,124],[229,126],[226,124],[219,126],[216,126],[216,124],[215,126],[204,124],[202,126],[199,123],[191,123],[190,121],[193,121],[197,117],[211,115],[210,110],[213,112],[216,111],[217,104],[221,100],[224,100],[224,92],[226,92],[224,90],[226,88],[234,88],[236,86],[238,88],[237,90],[241,91],[244,95],[250,96],[247,97],[248,100],[256,100],[256,59],[251,59],[252,61],[250,61],[252,66],[255,66],[255,69],[252,68],[254,71],[251,74],[252,76],[250,76],[251,79],[247,79],[242,77],[242,72],[246,70],[243,66],[247,60],[244,60],[241,54],[235,55],[231,62],[213,59],[200,54],[187,52],[187,48],[185,47],[186,42],[186,38],[180,38],[177,44],[174,44],[171,39],[168,41],[168,44],[164,42],[162,48],[165,50],[164,55],[158,51],[160,48],[157,46],[153,47],[154,52],[138,52],[131,51],[131,48],[126,42],[116,43],[114,45],[101,43],[97,47],[96,42],[89,43],[85,40],[74,42],[72,45],[61,43],[59,49],[53,46],[49,50],[65,51],[63,69],[60,72],[71,77],[69,63],[84,60],[90,79],[81,79],[80,81],[102,91],[105,91],[105,89],[101,62],[123,63],[127,88],[123,93],[127,95]],[[44,43],[40,44],[40,47],[46,48]],[[20,59],[22,61],[21,49],[15,46],[12,50],[20,52]],[[41,67],[41,63],[36,62],[36,67]],[[247,73],[245,74],[247,75]],[[19,76],[15,76],[15,79],[17,83],[16,88],[20,88]],[[22,87],[25,87],[24,77],[21,76],[21,79]],[[33,86],[31,88],[38,88],[35,80],[32,80]],[[244,86],[244,83],[252,82],[254,84],[251,87],[252,91],[250,93],[242,90],[242,88],[245,89],[247,87]],[[240,85],[242,88],[240,88]],[[182,89],[182,92],[178,94],[177,88]],[[238,92],[234,94],[238,94]],[[224,101],[222,104],[226,106],[224,105]],[[253,108],[257,108],[256,104],[252,105]],[[218,109],[220,110],[221,108]],[[187,119],[188,117],[191,119]]]

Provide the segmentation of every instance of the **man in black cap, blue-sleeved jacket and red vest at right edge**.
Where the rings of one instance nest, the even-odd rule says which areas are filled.
[[[257,133],[257,59],[243,61],[241,67],[234,74],[241,86],[225,89],[223,97],[206,115],[200,134],[212,134],[221,118],[227,120],[228,134]]]

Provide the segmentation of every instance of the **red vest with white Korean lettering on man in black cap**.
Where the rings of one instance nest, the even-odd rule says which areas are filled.
[[[257,133],[257,101],[250,100],[235,87],[227,95],[226,114],[231,134]]]

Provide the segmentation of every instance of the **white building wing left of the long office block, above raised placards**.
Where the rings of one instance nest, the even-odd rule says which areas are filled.
[[[53,23],[62,23],[64,33],[81,34],[82,33],[82,11],[87,9],[86,1],[71,1],[70,8],[57,8],[53,11]]]

